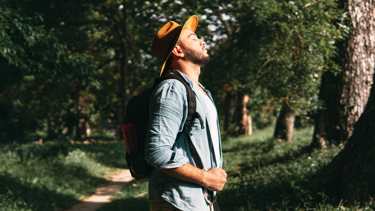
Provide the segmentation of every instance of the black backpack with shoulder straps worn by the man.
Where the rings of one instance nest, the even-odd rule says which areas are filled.
[[[124,125],[121,126],[126,144],[126,162],[132,177],[139,181],[148,181],[153,169],[153,166],[148,164],[144,158],[144,148],[148,127],[148,107],[150,96],[160,82],[166,79],[177,79],[184,84],[186,87],[188,106],[185,127],[187,129],[187,127],[193,123],[195,118],[198,118],[201,124],[201,129],[204,129],[203,120],[199,113],[196,112],[195,93],[191,89],[190,85],[184,80],[180,72],[177,70],[172,70],[172,73],[173,74],[167,74],[162,78],[155,79],[155,83],[152,87],[147,88],[138,93],[136,96],[132,97],[126,106]],[[177,137],[179,135],[180,134],[177,134]],[[197,164],[197,166],[202,166],[202,162],[199,160],[198,153],[196,152],[194,145],[192,144],[190,138],[188,139],[190,152],[194,162]]]

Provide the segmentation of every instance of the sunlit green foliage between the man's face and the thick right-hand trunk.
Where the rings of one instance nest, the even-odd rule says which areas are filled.
[[[345,15],[336,4],[335,0],[213,1],[207,21],[215,26],[211,34],[221,39],[213,43],[212,61],[202,76],[216,94],[221,115],[223,84],[257,102],[272,100],[279,104],[275,109],[287,105],[303,116],[314,110],[319,105],[320,76],[339,71],[333,61],[335,43],[348,33]],[[267,93],[257,96],[259,88]],[[251,115],[259,116],[257,112]]]

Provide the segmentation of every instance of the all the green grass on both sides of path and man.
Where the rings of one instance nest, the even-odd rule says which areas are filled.
[[[221,210],[374,210],[375,203],[336,202],[310,180],[342,147],[309,151],[312,128],[293,141],[272,138],[272,127],[252,136],[223,136],[228,182],[218,192]],[[2,150],[1,150],[2,149]],[[0,147],[0,211],[65,210],[127,168],[122,141]],[[132,181],[99,211],[149,210],[147,182]]]

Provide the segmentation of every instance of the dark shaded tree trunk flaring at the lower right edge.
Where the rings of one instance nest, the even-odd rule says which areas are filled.
[[[375,74],[374,74],[375,79]],[[375,86],[344,150],[318,174],[330,197],[369,201],[375,196]]]

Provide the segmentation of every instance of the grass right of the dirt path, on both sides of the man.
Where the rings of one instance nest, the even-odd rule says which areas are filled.
[[[272,138],[273,127],[252,136],[223,136],[223,168],[228,182],[218,192],[223,211],[233,210],[374,210],[374,202],[333,202],[310,179],[341,150],[332,145],[309,152],[313,129],[295,130],[293,141]],[[133,182],[100,211],[149,210],[147,183]]]

